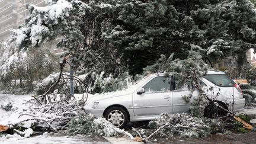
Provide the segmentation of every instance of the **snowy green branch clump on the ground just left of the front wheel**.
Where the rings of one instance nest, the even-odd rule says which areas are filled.
[[[67,132],[97,136],[117,136],[120,129],[104,118],[95,119],[91,114],[79,114],[68,123]],[[121,131],[121,130],[120,130]]]

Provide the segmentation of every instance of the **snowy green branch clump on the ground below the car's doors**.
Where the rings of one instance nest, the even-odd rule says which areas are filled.
[[[200,119],[186,113],[163,113],[159,119],[150,121],[149,127],[155,130],[162,127],[158,133],[160,137],[206,137],[210,133],[222,132],[223,124],[219,120]]]

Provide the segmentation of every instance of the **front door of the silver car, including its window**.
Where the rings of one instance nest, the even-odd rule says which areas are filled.
[[[135,116],[172,114],[171,76],[156,76],[143,86],[145,92],[133,94]]]

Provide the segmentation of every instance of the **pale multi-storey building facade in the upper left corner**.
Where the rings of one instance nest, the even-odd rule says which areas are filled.
[[[28,15],[25,4],[46,5],[44,0],[0,0],[0,41],[7,40],[10,31],[24,23]]]

